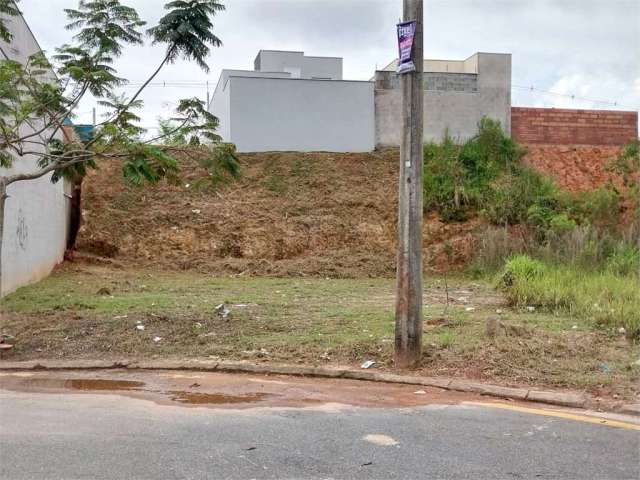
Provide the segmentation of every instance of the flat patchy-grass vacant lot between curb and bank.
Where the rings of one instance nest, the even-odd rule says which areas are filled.
[[[68,263],[3,299],[0,332],[16,337],[13,359],[213,356],[374,360],[391,368],[393,288],[392,279],[213,277]],[[589,319],[509,309],[491,285],[462,279],[450,279],[448,289],[426,279],[424,301],[422,373],[638,393],[637,346]],[[221,303],[228,318],[215,310]],[[496,337],[485,331],[489,318],[499,322]]]

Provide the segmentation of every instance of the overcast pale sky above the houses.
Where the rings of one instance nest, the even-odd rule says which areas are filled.
[[[163,0],[122,0],[149,26],[162,15]],[[396,56],[395,23],[401,0],[226,0],[214,19],[224,46],[212,51],[206,74],[193,64],[168,66],[158,86],[143,95],[145,127],[168,117],[179,98],[206,97],[222,68],[253,69],[262,49],[301,50],[344,58],[344,78],[368,80]],[[513,55],[513,104],[522,106],[640,109],[639,0],[425,0],[425,56],[464,59],[477,51]],[[24,16],[47,51],[70,40],[63,8],[77,0],[22,0]],[[145,45],[117,62],[132,82],[147,78],[163,50]],[[534,86],[618,106],[531,92]],[[126,89],[131,92],[132,87]],[[89,122],[92,101],[76,121]]]

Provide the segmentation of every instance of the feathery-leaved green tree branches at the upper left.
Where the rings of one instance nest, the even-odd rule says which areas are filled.
[[[224,10],[219,0],[179,0],[165,5],[158,25],[142,30],[146,22],[120,0],[80,0],[77,9],[66,9],[67,29],[75,32],[70,42],[56,49],[52,61],[43,53],[21,64],[0,61],[0,167],[9,168],[25,155],[37,159],[32,171],[0,172],[0,285],[1,246],[7,187],[52,174],[52,181],[67,177],[81,182],[87,169],[101,161],[122,162],[124,178],[133,184],[157,182],[176,174],[175,154],[182,147],[162,145],[162,135],[144,139],[133,110],[142,106],[141,93],[167,63],[183,59],[204,71],[211,47],[222,45],[213,33],[212,17]],[[0,13],[19,15],[16,3],[0,0]],[[0,38],[11,41],[11,31],[0,20]],[[126,83],[114,67],[115,59],[145,38],[166,47],[161,63],[130,98],[118,95]],[[107,117],[88,139],[60,140],[65,122],[87,95],[109,109]],[[215,134],[217,119],[204,102],[184,99],[177,114],[180,127],[193,138],[207,142],[198,150],[210,170],[237,175],[235,149],[220,143]],[[211,175],[214,177],[215,175]]]

